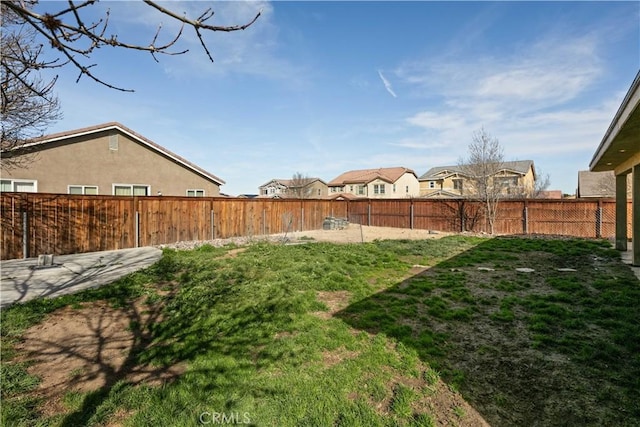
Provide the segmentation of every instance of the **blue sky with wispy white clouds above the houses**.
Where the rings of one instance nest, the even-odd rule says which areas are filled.
[[[196,16],[211,2],[168,2]],[[39,10],[59,7],[43,2]],[[163,23],[142,2],[102,1],[109,34],[147,44]],[[640,68],[640,2],[221,2],[180,56],[103,48],[87,63],[122,93],[57,70],[64,118],[51,132],[118,121],[257,193],[299,172],[330,181],[405,166],[418,176],[466,157],[480,128],[505,160],[533,160],[574,193]]]

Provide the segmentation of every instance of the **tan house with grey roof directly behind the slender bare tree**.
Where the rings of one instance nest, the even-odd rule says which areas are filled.
[[[420,197],[455,198],[473,196],[475,190],[463,166],[437,166],[418,179]],[[532,160],[504,162],[493,176],[503,187],[505,196],[531,197],[535,191],[536,173]]]

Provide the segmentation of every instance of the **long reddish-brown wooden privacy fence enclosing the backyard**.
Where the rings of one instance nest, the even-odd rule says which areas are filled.
[[[468,200],[299,200],[1,193],[2,259],[315,230],[326,217],[352,223],[487,232]],[[631,204],[628,215],[631,232]],[[615,200],[501,201],[497,234],[615,235]]]

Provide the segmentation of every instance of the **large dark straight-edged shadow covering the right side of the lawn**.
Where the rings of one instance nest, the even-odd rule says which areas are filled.
[[[606,242],[486,240],[335,316],[414,348],[491,425],[640,423],[640,286]]]

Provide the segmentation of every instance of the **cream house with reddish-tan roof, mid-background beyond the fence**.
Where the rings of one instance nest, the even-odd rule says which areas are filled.
[[[405,167],[361,169],[345,172],[329,181],[329,197],[345,195],[372,199],[418,197],[416,173]]]

